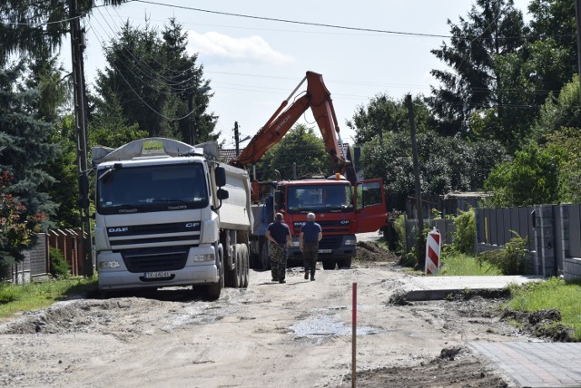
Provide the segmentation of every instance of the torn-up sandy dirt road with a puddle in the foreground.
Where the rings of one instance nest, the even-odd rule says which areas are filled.
[[[392,306],[391,263],[355,262],[287,284],[251,272],[216,302],[185,289],[79,298],[0,325],[0,385],[349,387],[352,285],[358,386],[507,386],[465,345],[526,341],[473,298]],[[386,369],[381,369],[386,368]]]

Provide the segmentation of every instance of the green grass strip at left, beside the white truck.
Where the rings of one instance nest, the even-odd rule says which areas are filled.
[[[42,283],[0,283],[0,319],[52,305],[68,297],[86,294],[97,287],[97,277],[52,279]]]

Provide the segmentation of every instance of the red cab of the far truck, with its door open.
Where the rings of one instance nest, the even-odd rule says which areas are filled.
[[[273,201],[267,200],[262,206],[266,207],[266,219],[273,219],[273,212],[281,212],[291,228],[292,246],[287,250],[290,265],[302,264],[299,233],[309,213],[315,214],[322,229],[319,261],[324,269],[350,267],[357,252],[356,234],[377,231],[388,217],[381,179],[351,184],[337,174],[329,179],[271,182],[270,188]],[[262,262],[262,267],[266,265]]]

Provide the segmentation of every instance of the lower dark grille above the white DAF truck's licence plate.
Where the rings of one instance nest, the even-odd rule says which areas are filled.
[[[185,267],[188,247],[127,249],[121,252],[129,272],[176,271]]]

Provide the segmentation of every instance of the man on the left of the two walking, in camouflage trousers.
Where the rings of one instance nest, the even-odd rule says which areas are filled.
[[[271,241],[272,281],[286,283],[284,277],[287,272],[287,247],[291,247],[291,229],[282,222],[281,213],[276,213],[265,236]]]

